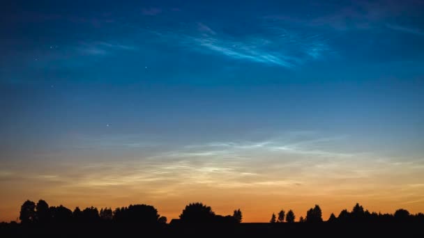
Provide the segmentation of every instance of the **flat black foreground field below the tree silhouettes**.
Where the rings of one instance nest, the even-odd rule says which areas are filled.
[[[3,224],[0,237],[424,237],[423,223]]]

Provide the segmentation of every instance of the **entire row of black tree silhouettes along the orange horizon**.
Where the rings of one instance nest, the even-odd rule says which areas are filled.
[[[25,201],[20,209],[20,221],[22,224],[43,224],[43,223],[137,223],[137,224],[166,224],[167,218],[160,216],[158,210],[145,204],[129,205],[128,207],[112,208],[104,207],[100,210],[96,207],[86,207],[79,209],[75,207],[72,211],[63,205],[50,207],[45,200],[34,203],[31,200]],[[179,219],[174,219],[172,223],[225,223],[236,224],[243,221],[243,214],[240,209],[235,209],[232,215],[221,216],[215,214],[211,207],[202,203],[190,203],[181,212]],[[275,215],[272,214],[270,223],[295,223],[296,215],[292,209],[286,213],[284,209]],[[305,218],[300,216],[298,223],[321,223],[321,207],[315,205],[307,212]],[[349,212],[342,210],[338,216],[331,214],[326,223],[381,223],[381,222],[401,222],[414,223],[424,222],[424,214],[410,214],[406,209],[398,209],[394,214],[381,214],[369,212],[356,203]]]

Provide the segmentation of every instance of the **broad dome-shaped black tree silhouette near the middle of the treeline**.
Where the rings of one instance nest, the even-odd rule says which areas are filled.
[[[202,203],[190,203],[185,206],[180,215],[183,222],[190,223],[205,223],[213,221],[215,213],[212,212],[211,207],[203,205]]]

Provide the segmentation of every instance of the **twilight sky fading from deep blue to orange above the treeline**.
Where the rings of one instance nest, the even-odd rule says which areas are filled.
[[[6,1],[0,221],[424,212],[423,1]]]

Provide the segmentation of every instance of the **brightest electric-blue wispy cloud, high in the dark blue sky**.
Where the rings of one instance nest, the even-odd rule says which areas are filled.
[[[202,54],[220,54],[236,60],[294,68],[317,60],[329,50],[319,35],[298,34],[278,26],[262,25],[265,33],[243,36],[215,31],[204,23],[192,32],[156,32],[162,38],[172,38],[179,45]]]

